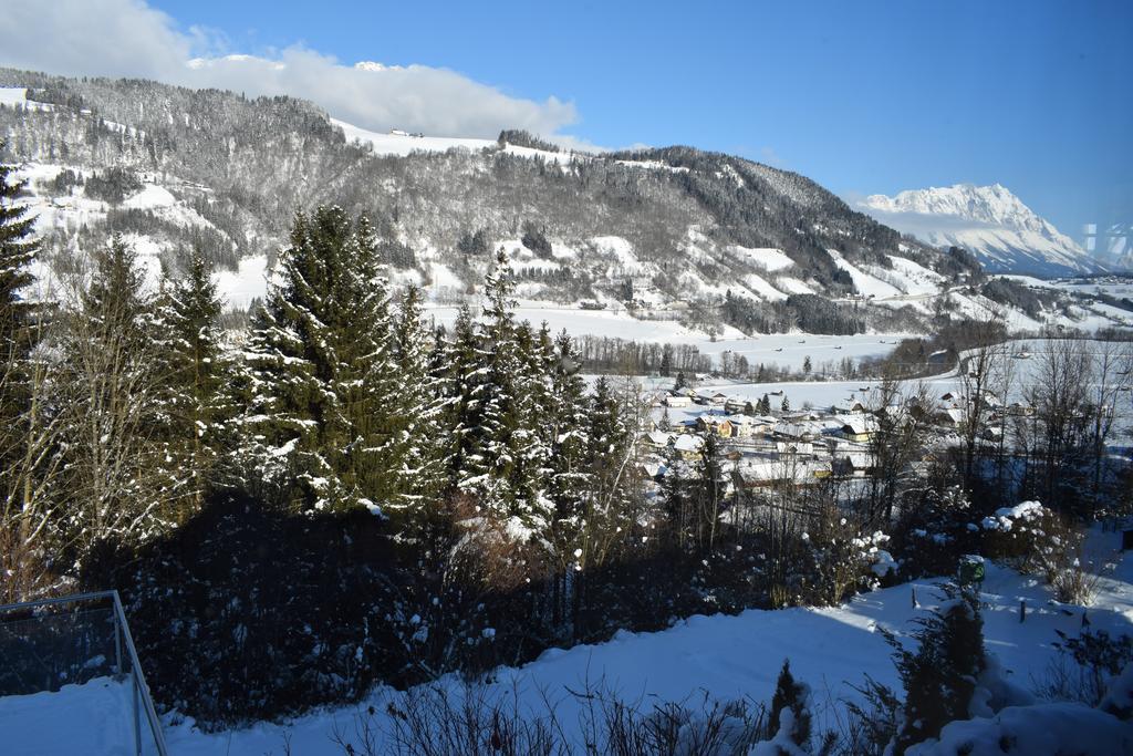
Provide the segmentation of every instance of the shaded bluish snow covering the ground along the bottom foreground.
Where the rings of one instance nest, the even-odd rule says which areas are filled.
[[[1092,555],[1116,552],[1118,536],[1094,534]],[[1060,605],[1037,579],[991,567],[983,584],[985,637],[988,652],[1005,670],[1007,679],[1033,689],[1055,659],[1051,643],[1056,630],[1075,636],[1082,614],[1096,630],[1133,634],[1133,557],[1116,562],[1116,570],[1099,584],[1089,610]],[[913,600],[918,606],[913,606]],[[1020,622],[1020,602],[1026,601],[1026,619]],[[900,688],[891,662],[891,649],[879,627],[898,634],[914,629],[938,601],[932,581],[917,581],[862,594],[833,609],[750,610],[735,617],[691,617],[672,628],[650,634],[621,632],[598,645],[550,649],[519,669],[502,669],[482,691],[487,700],[511,703],[521,711],[543,712],[543,700],[553,702],[560,721],[574,732],[579,703],[569,690],[602,687],[648,707],[659,702],[685,702],[697,707],[705,695],[715,699],[748,698],[766,702],[774,690],[784,659],[791,660],[796,679],[815,690],[816,725],[836,727],[845,702],[857,700],[851,687],[869,673],[884,685]],[[445,678],[444,686],[458,698],[463,686]],[[170,723],[167,740],[174,756],[263,756],[282,754],[290,738],[292,753],[305,756],[342,753],[332,744],[335,732],[352,733],[356,716],[373,706],[378,717],[387,703],[403,694],[380,689],[357,706],[312,713],[290,722],[257,724],[230,732],[206,734],[189,722]],[[104,681],[59,694],[0,698],[0,731],[9,753],[126,753],[116,738],[127,733],[116,724],[121,700]],[[53,723],[68,722],[67,728]],[[378,722],[381,723],[381,722]],[[75,731],[86,730],[100,750],[75,749]],[[53,741],[51,738],[59,738]],[[129,741],[127,740],[127,744]],[[18,746],[27,745],[28,749]]]

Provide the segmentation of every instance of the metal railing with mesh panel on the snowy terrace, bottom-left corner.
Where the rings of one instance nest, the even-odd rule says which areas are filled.
[[[84,608],[107,602],[109,608]],[[168,756],[161,721],[117,591],[0,605],[0,696],[53,691],[61,685],[82,685],[107,672],[118,680],[129,677],[136,754]],[[143,739],[143,716],[152,740]]]

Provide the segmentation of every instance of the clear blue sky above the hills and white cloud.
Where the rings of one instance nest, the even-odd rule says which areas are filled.
[[[998,181],[1074,237],[1133,216],[1128,0],[148,7],[194,54],[449,69],[526,108],[516,125],[597,145],[739,153],[846,197]],[[494,128],[485,118],[436,128]]]

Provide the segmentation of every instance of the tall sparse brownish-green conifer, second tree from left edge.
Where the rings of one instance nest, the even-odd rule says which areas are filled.
[[[93,255],[60,338],[59,424],[66,439],[62,512],[82,549],[137,542],[169,525],[172,492],[161,474],[161,376],[152,297],[121,238]]]

